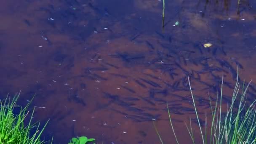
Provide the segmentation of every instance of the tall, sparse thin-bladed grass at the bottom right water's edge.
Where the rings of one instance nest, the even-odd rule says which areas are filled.
[[[189,77],[188,77],[189,78]],[[188,79],[189,81],[189,79]],[[189,81],[189,88],[193,100],[193,106],[195,108],[195,114],[197,117],[197,122],[199,125],[200,133],[201,133],[201,141],[203,144],[210,143],[210,144],[254,144],[256,143],[256,100],[254,100],[248,106],[248,102],[246,101],[246,91],[250,85],[251,81],[248,85],[241,86],[238,80],[237,75],[237,82],[235,84],[235,89],[232,94],[232,101],[231,104],[227,104],[227,113],[223,115],[221,112],[221,102],[222,102],[222,87],[223,87],[223,78],[221,83],[221,93],[220,97],[217,95],[217,101],[215,103],[215,107],[213,107],[211,98],[210,106],[211,106],[211,114],[212,114],[212,122],[210,127],[210,135],[207,135],[207,117],[205,116],[205,132],[203,133],[202,124],[200,123],[200,119],[197,113],[197,108],[195,105],[195,99],[192,93],[190,81]],[[220,99],[220,100],[218,100]],[[237,106],[238,104],[238,106]],[[168,107],[168,104],[167,104]],[[177,144],[179,144],[178,138],[175,135],[175,131],[171,122],[171,112],[168,109],[169,120],[171,123],[171,128],[176,138]],[[224,117],[223,117],[224,116]],[[190,128],[187,126],[187,131],[192,139],[193,144],[195,144],[195,139],[193,135],[193,129],[191,126],[191,119],[190,119]],[[163,144],[163,140],[161,139],[157,129],[157,135],[160,138],[161,143]],[[208,138],[208,139],[207,139]]]

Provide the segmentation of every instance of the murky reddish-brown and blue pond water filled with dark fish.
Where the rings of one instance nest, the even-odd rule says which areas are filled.
[[[33,100],[44,136],[65,144],[190,143],[197,127],[187,75],[204,123],[209,96],[230,103],[237,76],[256,78],[256,1],[5,0],[0,5],[0,95]],[[175,25],[176,21],[179,22]],[[210,48],[203,44],[211,43]],[[252,83],[248,100],[256,98]],[[199,131],[195,131],[199,136]],[[199,140],[200,137],[198,137]]]

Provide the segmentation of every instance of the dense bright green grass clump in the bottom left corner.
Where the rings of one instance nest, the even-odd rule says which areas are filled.
[[[40,140],[40,136],[49,120],[45,123],[42,130],[39,130],[40,122],[32,124],[32,117],[35,112],[35,108],[31,115],[27,112],[31,101],[26,107],[21,107],[19,114],[15,115],[13,113],[13,109],[17,107],[16,102],[19,98],[19,94],[14,96],[12,101],[8,96],[4,101],[0,100],[0,144],[45,143],[45,141]],[[25,125],[24,120],[29,116],[29,123],[28,125]],[[32,133],[32,130],[35,130],[35,132]]]

